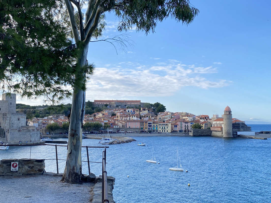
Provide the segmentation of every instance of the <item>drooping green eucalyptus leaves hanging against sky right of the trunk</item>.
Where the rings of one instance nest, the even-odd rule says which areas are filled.
[[[154,32],[157,22],[166,18],[175,19],[177,22],[189,24],[193,21],[199,10],[192,6],[188,0],[133,0],[115,1],[113,9],[120,18],[119,31],[127,31],[136,25],[137,31],[146,34]]]

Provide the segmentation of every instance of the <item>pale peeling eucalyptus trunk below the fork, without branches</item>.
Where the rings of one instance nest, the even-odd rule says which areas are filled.
[[[83,48],[83,52],[78,63],[80,67],[87,64],[86,56],[88,54],[88,45]],[[77,77],[86,77],[85,74]],[[85,84],[83,84],[85,85]],[[67,147],[66,167],[61,182],[79,183],[82,176],[82,127],[85,115],[86,92],[82,87],[73,89],[72,110],[70,114],[69,140]]]

